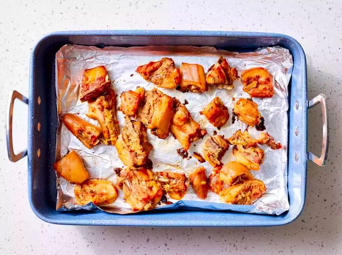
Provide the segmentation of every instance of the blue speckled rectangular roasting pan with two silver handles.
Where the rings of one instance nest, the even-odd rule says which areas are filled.
[[[65,44],[86,46],[187,45],[214,46],[231,51],[253,51],[263,46],[282,46],[293,55],[289,84],[288,195],[290,209],[279,215],[248,214],[233,211],[174,210],[118,215],[104,211],[56,211],[55,161],[58,126],[55,92],[55,54]],[[7,109],[7,149],[13,162],[24,156],[28,161],[28,197],[32,210],[43,221],[69,225],[145,227],[243,227],[277,226],[294,221],[305,200],[306,163],[324,165],[327,159],[329,126],[326,97],[307,101],[305,54],[299,43],[286,35],[225,31],[70,31],[43,37],[33,48],[30,63],[29,97],[14,91]],[[28,104],[28,147],[13,152],[12,114],[15,99]],[[323,141],[321,156],[307,152],[307,110],[320,102]],[[37,128],[38,122],[41,124]]]

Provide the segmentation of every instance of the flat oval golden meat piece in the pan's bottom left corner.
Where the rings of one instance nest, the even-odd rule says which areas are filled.
[[[96,206],[108,205],[114,203],[118,198],[118,190],[113,183],[98,179],[75,185],[74,194],[76,204],[81,206],[90,202],[93,202]]]

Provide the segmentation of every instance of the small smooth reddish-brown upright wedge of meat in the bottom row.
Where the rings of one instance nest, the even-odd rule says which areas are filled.
[[[208,194],[208,180],[204,167],[198,167],[189,174],[190,183],[199,199],[206,199]]]

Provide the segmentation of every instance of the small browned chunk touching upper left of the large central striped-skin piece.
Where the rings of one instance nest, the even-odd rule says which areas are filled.
[[[144,102],[145,90],[139,88],[135,91],[125,91],[120,95],[120,111],[126,116],[136,117],[139,106]]]

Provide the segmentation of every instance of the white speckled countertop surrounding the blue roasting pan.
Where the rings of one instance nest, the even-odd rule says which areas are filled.
[[[162,3],[165,2],[165,3]],[[342,254],[342,1],[4,1],[0,8],[0,254]],[[277,1],[279,2],[279,1]],[[30,51],[44,34],[85,29],[189,29],[284,33],[307,57],[308,97],[325,93],[329,161],[308,163],[305,208],[276,228],[114,228],[57,226],[30,209],[27,162],[5,144],[9,93],[28,94]],[[15,111],[15,144],[27,143],[26,107]],[[308,144],[321,147],[321,109],[309,112]],[[11,207],[9,207],[11,205]]]

